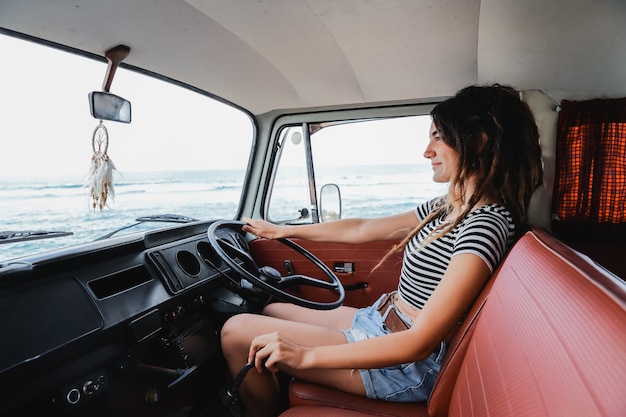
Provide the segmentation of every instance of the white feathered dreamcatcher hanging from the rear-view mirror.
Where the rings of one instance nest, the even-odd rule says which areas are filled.
[[[98,207],[102,210],[107,205],[109,198],[115,198],[115,190],[113,188],[113,170],[115,170],[115,165],[107,154],[109,132],[102,120],[100,120],[100,123],[93,131],[91,146],[93,156],[91,157],[91,166],[85,185],[89,187],[93,209],[95,210]]]

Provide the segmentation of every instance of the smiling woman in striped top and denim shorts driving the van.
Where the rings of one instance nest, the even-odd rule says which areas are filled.
[[[543,174],[537,126],[514,89],[467,87],[431,116],[424,157],[433,180],[450,183],[446,196],[376,219],[304,226],[246,219],[245,231],[269,239],[402,239],[390,254],[404,250],[397,292],[370,307],[316,311],[275,303],[263,315],[226,322],[222,346],[231,373],[246,362],[257,371],[239,391],[248,415],[279,412],[277,371],[369,398],[428,398],[456,325],[526,220]]]

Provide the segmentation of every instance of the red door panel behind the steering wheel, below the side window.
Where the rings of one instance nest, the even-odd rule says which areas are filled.
[[[365,244],[338,244],[309,242],[292,239],[318,257],[326,266],[334,270],[346,288],[344,305],[367,306],[385,292],[393,291],[398,285],[402,267],[402,253],[385,261],[372,272],[378,261],[397,241],[378,241]],[[292,273],[327,279],[325,275],[306,258],[287,246],[269,239],[256,239],[250,242],[250,251],[258,266],[271,266],[285,276]],[[286,266],[288,264],[289,266]],[[340,272],[343,270],[344,272]],[[332,301],[335,294],[312,287],[297,288],[294,293],[316,301]]]

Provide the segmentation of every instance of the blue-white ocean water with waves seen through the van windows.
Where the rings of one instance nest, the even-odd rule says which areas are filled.
[[[0,243],[0,262],[95,240],[136,223],[141,216],[178,214],[199,220],[232,219],[237,211],[243,170],[115,173],[115,198],[102,211],[90,207],[83,178],[0,178],[0,234],[6,231],[71,231],[71,236],[17,243]],[[295,178],[295,177],[294,177]],[[432,182],[427,165],[375,165],[335,168],[342,217],[376,217],[414,208],[445,191]],[[302,192],[303,184],[289,180],[286,195]],[[317,186],[323,184],[323,179]],[[294,205],[295,204],[295,205]],[[300,206],[274,200],[271,213],[295,213]],[[301,205],[301,204],[300,204]],[[278,207],[278,208],[276,208]],[[272,211],[273,210],[273,211]],[[166,226],[144,223],[124,232]]]

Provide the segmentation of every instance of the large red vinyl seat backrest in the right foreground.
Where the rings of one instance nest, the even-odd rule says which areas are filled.
[[[541,230],[494,278],[429,414],[626,415],[624,282]]]

